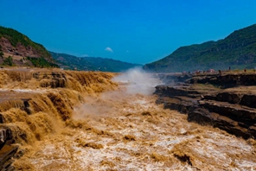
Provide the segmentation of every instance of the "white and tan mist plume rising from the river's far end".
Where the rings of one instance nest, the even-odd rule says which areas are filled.
[[[118,83],[119,89],[117,91],[103,92],[99,97],[85,97],[86,103],[74,110],[74,118],[110,116],[117,111],[122,112],[119,109],[132,103],[146,105],[144,100],[134,100],[134,97],[138,95],[149,96],[155,91],[156,85],[163,84],[154,74],[146,73],[139,67],[119,74],[112,81]]]

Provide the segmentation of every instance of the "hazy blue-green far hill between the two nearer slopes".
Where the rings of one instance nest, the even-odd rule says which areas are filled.
[[[64,69],[80,71],[103,71],[103,72],[123,72],[131,67],[142,66],[131,64],[120,60],[112,60],[99,57],[76,57],[69,54],[58,54],[49,52],[58,65]]]

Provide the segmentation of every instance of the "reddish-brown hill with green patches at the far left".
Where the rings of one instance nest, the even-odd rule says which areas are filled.
[[[52,67],[54,59],[41,44],[13,28],[0,26],[0,65]]]

